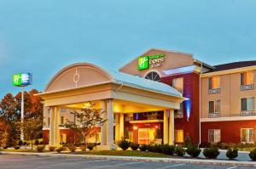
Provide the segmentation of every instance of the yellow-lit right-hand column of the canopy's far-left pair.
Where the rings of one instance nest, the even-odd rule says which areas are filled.
[[[61,139],[60,139],[61,109],[58,107],[55,107],[54,111],[55,111],[54,144],[59,145],[61,142]]]

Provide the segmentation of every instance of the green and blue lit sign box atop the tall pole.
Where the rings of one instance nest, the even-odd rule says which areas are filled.
[[[21,73],[14,75],[14,86],[25,87],[32,84],[32,74],[31,73]]]

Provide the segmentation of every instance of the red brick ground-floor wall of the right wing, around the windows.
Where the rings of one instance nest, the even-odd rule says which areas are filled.
[[[241,128],[254,128],[256,131],[256,120],[253,121],[214,121],[201,123],[201,141],[208,142],[208,130],[220,129],[222,143],[241,143]],[[254,142],[256,141],[254,134]]]

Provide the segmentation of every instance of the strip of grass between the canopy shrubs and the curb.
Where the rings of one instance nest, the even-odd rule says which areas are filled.
[[[130,151],[130,150],[102,150],[102,151],[86,151],[84,152],[75,152],[69,154],[80,154],[80,155],[114,155],[114,156],[139,156],[139,157],[160,157],[160,158],[170,158],[173,157],[171,155],[164,155],[160,153],[146,152],[146,151]]]

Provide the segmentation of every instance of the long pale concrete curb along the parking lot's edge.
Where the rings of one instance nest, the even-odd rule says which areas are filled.
[[[53,153],[23,153],[23,152],[4,152],[0,155],[23,155],[23,156],[42,156],[42,157],[65,157],[65,158],[84,158],[100,159],[112,161],[144,161],[144,162],[166,162],[166,163],[186,163],[203,164],[218,166],[256,166],[253,161],[222,161],[222,160],[201,160],[201,159],[174,159],[174,158],[154,158],[154,157],[135,157],[135,156],[112,156],[112,155],[66,155]]]

